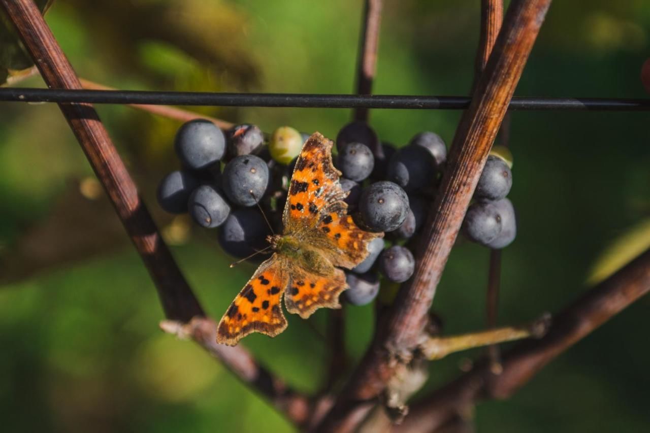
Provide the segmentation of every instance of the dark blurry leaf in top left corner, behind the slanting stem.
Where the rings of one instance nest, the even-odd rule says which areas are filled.
[[[42,14],[51,6],[54,0],[36,0],[36,5]],[[23,47],[14,25],[0,9],[0,85],[6,79],[34,65],[31,57]]]

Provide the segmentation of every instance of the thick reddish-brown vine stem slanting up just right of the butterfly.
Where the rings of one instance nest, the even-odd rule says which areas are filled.
[[[417,267],[400,289],[382,328],[350,382],[326,415],[320,431],[349,431],[363,419],[393,374],[396,360],[417,344],[435,287],[456,240],[487,153],[521,77],[551,0],[514,0],[469,109],[460,120]]]

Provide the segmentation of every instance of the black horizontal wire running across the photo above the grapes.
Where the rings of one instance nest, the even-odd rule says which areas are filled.
[[[466,96],[146,92],[47,88],[0,88],[0,101],[427,110],[461,110],[469,106],[469,98]],[[650,99],[512,98],[509,108],[511,110],[650,111]]]

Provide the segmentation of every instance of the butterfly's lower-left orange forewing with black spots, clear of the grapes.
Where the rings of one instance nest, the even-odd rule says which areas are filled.
[[[287,328],[280,306],[289,284],[283,258],[274,254],[259,265],[252,278],[230,304],[216,332],[216,342],[229,346],[251,332],[275,337]]]

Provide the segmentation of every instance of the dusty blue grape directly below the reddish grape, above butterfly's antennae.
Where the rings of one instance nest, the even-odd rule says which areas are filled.
[[[268,166],[255,155],[241,155],[226,164],[222,178],[224,191],[231,202],[253,206],[266,192]]]

